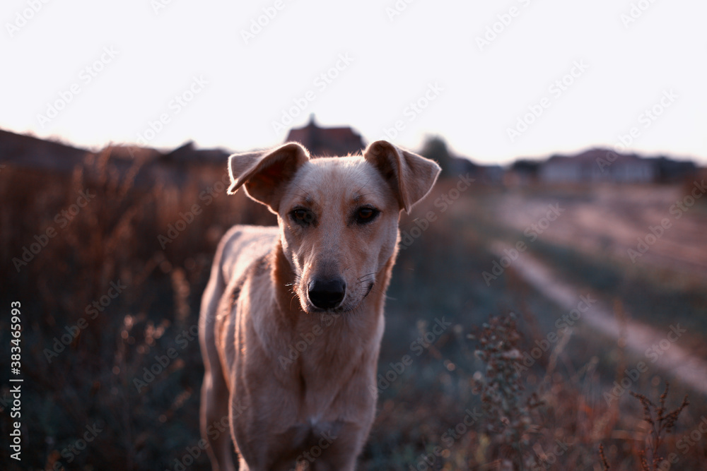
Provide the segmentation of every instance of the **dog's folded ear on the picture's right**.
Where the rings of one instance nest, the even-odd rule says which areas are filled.
[[[427,196],[441,171],[433,160],[399,149],[387,141],[368,145],[363,158],[392,186],[400,209],[408,214],[415,203]]]

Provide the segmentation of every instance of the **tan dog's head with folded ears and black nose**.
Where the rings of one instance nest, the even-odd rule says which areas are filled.
[[[440,167],[386,141],[363,156],[310,159],[298,143],[229,158],[229,194],[244,186],[278,217],[305,312],[351,311],[395,254],[401,210],[432,189]]]

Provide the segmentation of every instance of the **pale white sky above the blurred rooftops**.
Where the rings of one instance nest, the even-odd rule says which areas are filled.
[[[707,165],[703,0],[45,1],[0,7],[0,129],[248,150],[314,113],[484,163],[623,136]]]

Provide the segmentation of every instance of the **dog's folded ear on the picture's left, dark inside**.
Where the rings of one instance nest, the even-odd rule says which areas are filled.
[[[233,154],[228,157],[228,194],[245,186],[250,198],[277,213],[284,183],[308,160],[307,149],[298,143],[286,143],[265,153]]]

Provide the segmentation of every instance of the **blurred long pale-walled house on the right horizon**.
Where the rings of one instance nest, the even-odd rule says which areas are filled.
[[[592,149],[573,157],[554,155],[539,168],[544,183],[650,183],[657,177],[655,162],[638,155],[621,155]]]

